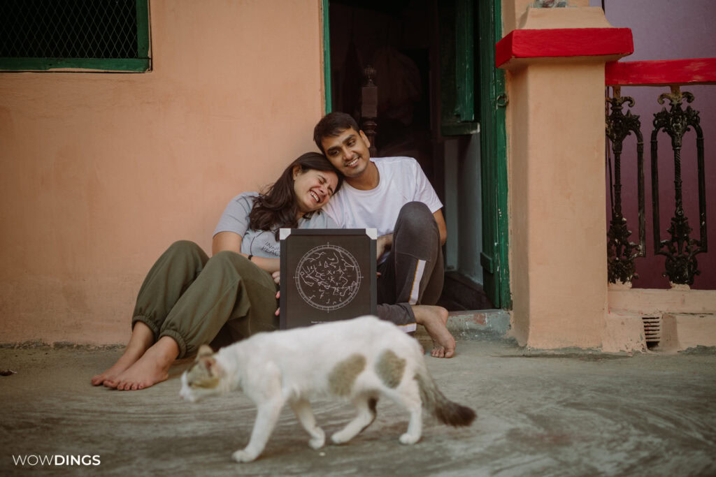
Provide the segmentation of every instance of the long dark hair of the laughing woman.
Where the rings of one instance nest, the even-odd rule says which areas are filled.
[[[334,172],[338,176],[338,184],[333,193],[339,191],[343,184],[343,176],[338,169],[323,154],[318,152],[306,152],[298,159],[289,164],[274,182],[266,193],[259,194],[256,202],[253,203],[251,213],[248,214],[248,227],[253,230],[276,230],[276,240],[279,240],[279,229],[296,228],[299,225],[296,214],[299,207],[296,204],[294,192],[294,167],[300,166],[301,173],[309,169]],[[313,212],[308,212],[304,217],[311,217]]]

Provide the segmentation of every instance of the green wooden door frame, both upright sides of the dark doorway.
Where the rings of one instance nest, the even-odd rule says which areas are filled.
[[[508,262],[507,133],[505,130],[505,74],[495,68],[495,44],[502,39],[501,0],[473,0],[478,9],[480,97],[480,157],[483,191],[484,289],[498,308],[512,308]],[[461,2],[464,3],[464,2]],[[331,36],[329,0],[321,0],[324,59],[324,109],[332,111]],[[468,39],[469,41],[470,39]]]

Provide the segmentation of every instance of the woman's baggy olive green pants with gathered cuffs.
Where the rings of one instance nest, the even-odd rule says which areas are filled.
[[[236,252],[209,258],[194,242],[174,242],[142,283],[132,318],[147,325],[155,340],[173,338],[179,358],[217,338],[238,341],[279,328],[276,284]],[[215,342],[216,343],[216,342]]]

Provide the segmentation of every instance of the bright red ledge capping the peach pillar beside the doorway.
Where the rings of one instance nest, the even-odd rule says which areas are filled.
[[[627,56],[634,53],[629,28],[560,28],[511,31],[495,46],[495,66],[511,59]],[[505,65],[506,66],[506,65]]]

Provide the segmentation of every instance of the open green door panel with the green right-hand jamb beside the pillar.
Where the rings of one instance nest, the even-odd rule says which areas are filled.
[[[511,308],[507,97],[504,72],[495,68],[495,43],[502,37],[500,0],[443,1],[440,11],[442,134],[472,134],[479,123],[483,290],[496,307]]]

